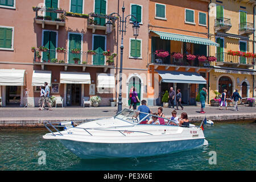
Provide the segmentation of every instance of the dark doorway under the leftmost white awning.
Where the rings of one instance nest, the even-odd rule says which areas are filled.
[[[20,86],[6,86],[6,105],[20,104]]]

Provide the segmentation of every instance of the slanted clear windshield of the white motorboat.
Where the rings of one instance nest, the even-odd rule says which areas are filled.
[[[117,113],[117,115],[114,116],[114,118],[117,119],[121,119],[123,121],[128,121],[128,122],[132,122],[135,125],[138,125],[139,123],[141,123],[143,119],[141,119],[141,121],[139,121],[139,117],[135,117],[137,115],[137,113],[142,113],[140,111],[136,111],[136,110],[130,110],[130,109],[123,109],[121,112]],[[145,118],[150,118],[152,119],[152,116],[158,117],[158,118],[163,118],[163,117],[159,117],[157,115],[153,115],[153,114],[149,114],[149,113],[143,113],[146,114]],[[163,118],[164,122],[166,123],[166,125],[177,125],[176,123],[174,123],[173,121],[171,121],[170,119],[167,118]]]

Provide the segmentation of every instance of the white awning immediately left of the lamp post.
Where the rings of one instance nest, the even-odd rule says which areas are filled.
[[[110,73],[97,74],[97,88],[114,88],[115,77]]]

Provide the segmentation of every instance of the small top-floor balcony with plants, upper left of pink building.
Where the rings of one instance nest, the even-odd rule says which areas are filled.
[[[59,26],[65,26],[65,11],[59,9],[34,7],[36,12],[35,23],[42,24],[44,28],[45,24],[56,26],[56,30],[59,30]]]

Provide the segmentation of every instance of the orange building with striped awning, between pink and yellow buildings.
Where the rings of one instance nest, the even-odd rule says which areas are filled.
[[[182,104],[195,105],[199,90],[209,88],[209,46],[218,46],[208,36],[209,3],[150,0],[147,91],[151,105],[161,105],[170,87],[175,92],[181,89]]]

